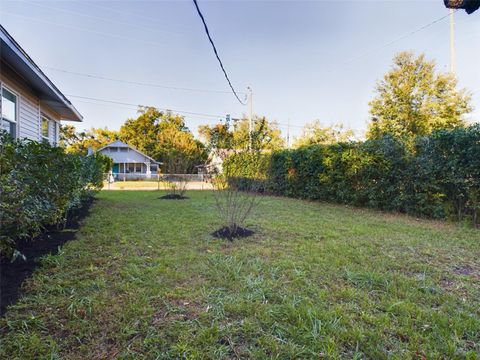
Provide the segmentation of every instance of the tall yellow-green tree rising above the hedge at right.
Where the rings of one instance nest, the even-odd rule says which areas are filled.
[[[437,72],[435,62],[425,55],[397,54],[370,102],[372,122],[367,137],[388,134],[411,139],[463,126],[463,115],[472,110],[470,95],[456,87],[455,77]]]

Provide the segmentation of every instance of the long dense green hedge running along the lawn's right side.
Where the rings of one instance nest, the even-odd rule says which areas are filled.
[[[415,143],[392,137],[239,154],[226,172],[263,191],[430,218],[471,217],[480,209],[480,126],[438,131]]]

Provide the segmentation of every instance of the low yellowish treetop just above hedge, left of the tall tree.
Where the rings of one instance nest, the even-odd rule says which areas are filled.
[[[353,130],[345,129],[342,124],[325,126],[316,120],[305,125],[302,135],[296,139],[293,147],[347,142],[352,140],[353,136]]]

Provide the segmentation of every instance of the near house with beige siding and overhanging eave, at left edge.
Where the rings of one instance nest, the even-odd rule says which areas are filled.
[[[0,129],[58,144],[60,121],[82,116],[0,25]]]

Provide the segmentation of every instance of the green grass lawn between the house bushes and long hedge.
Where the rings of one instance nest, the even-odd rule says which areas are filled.
[[[480,231],[265,197],[104,191],[0,320],[2,359],[480,358]]]

